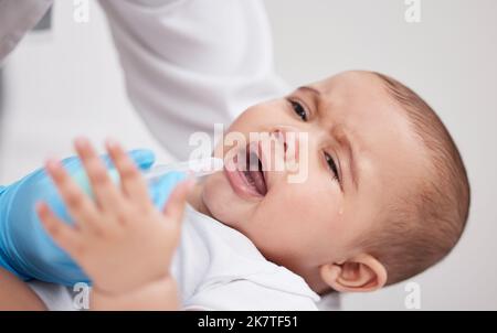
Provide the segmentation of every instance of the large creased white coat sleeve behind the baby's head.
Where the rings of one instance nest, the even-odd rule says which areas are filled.
[[[248,106],[288,92],[274,73],[260,0],[102,0],[101,6],[133,105],[178,159],[195,148],[191,133],[207,132],[212,140],[214,123],[228,126]]]

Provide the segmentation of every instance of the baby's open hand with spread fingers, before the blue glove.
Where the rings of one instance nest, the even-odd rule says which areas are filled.
[[[107,142],[107,150],[119,172],[120,187],[113,183],[87,140],[76,140],[75,148],[95,201],[83,193],[59,161],[49,161],[46,170],[75,225],[67,225],[41,203],[38,214],[47,233],[102,292],[118,294],[169,278],[192,181],[180,183],[165,211],[159,212],[149,198],[146,181],[117,143]]]

